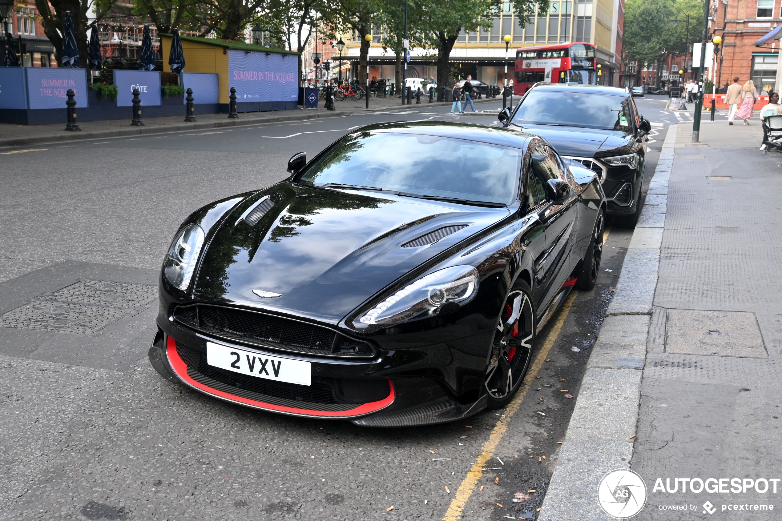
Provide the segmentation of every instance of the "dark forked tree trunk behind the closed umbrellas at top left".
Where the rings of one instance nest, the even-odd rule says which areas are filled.
[[[58,63],[63,61],[63,30],[65,28],[65,13],[70,11],[74,18],[74,34],[79,49],[81,66],[87,64],[88,37],[87,30],[109,14],[117,0],[35,0],[35,7],[41,16],[41,25],[48,40],[52,42]],[[49,6],[51,5],[51,9]],[[95,12],[95,21],[89,23],[88,11]]]

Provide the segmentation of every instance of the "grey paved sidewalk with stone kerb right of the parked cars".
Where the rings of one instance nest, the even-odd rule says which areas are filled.
[[[782,155],[756,118],[700,136],[669,127],[540,519],[615,519],[612,469],[634,519],[782,519]]]

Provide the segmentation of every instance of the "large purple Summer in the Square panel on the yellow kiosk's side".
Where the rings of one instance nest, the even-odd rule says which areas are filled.
[[[296,55],[228,51],[228,86],[237,102],[295,102],[299,99]]]

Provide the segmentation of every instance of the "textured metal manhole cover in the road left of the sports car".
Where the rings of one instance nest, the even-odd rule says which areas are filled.
[[[147,309],[156,297],[155,286],[81,280],[0,315],[0,326],[94,335]]]

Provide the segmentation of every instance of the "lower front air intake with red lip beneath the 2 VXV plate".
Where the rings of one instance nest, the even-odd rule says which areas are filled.
[[[188,375],[194,380],[218,391],[242,396],[255,401],[274,403],[300,409],[319,404],[319,410],[348,410],[355,405],[387,398],[391,392],[388,380],[348,380],[312,376],[311,385],[276,382],[256,376],[247,376],[210,366],[206,353],[177,342],[179,358],[188,366]],[[278,398],[277,400],[270,397]]]

